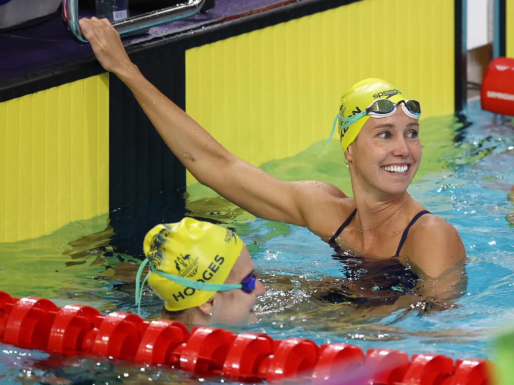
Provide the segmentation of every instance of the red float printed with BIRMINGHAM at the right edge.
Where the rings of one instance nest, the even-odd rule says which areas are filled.
[[[514,59],[497,57],[487,66],[480,91],[482,108],[514,115]]]

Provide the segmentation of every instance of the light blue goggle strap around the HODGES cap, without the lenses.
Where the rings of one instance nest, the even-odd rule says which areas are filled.
[[[144,278],[144,281],[141,284],[141,286],[139,286],[139,282],[141,281],[141,275],[143,273],[144,266],[148,262],[149,262],[148,258],[145,258],[143,263],[141,263],[141,265],[139,266],[139,268],[137,270],[137,275],[136,275],[136,305],[137,305],[138,314],[141,313],[141,298],[143,295],[142,288],[143,288],[146,280],[148,279],[148,277],[150,277],[150,275],[152,273],[160,275],[163,278],[167,278],[170,281],[178,283],[179,285],[191,287],[196,290],[205,290],[207,292],[223,292],[223,291],[227,291],[227,290],[243,288],[243,285],[241,283],[207,283],[207,282],[195,281],[195,280],[192,280],[189,278],[179,277],[179,276],[173,275],[173,274],[164,273],[164,272],[161,272],[160,270],[156,269],[154,267],[154,265],[152,265],[151,263],[149,264],[150,272]]]

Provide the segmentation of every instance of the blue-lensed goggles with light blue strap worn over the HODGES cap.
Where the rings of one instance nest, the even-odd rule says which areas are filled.
[[[255,290],[255,281],[257,280],[257,275],[254,272],[251,272],[245,278],[243,278],[241,283],[207,283],[161,272],[160,270],[156,269],[154,265],[152,265],[151,263],[149,264],[150,272],[144,278],[143,283],[140,284],[144,266],[146,266],[148,262],[150,262],[149,259],[145,258],[143,263],[141,263],[141,265],[139,266],[136,275],[136,305],[138,306],[137,309],[139,314],[141,314],[141,298],[143,295],[142,287],[144,286],[146,280],[148,279],[148,277],[150,277],[152,273],[160,275],[163,278],[167,278],[170,281],[178,283],[179,285],[194,288],[195,290],[205,290],[208,292],[224,292],[228,290],[241,289],[243,292],[247,294]]]

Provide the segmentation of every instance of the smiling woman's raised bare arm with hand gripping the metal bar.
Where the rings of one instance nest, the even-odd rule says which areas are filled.
[[[320,194],[344,197],[332,185],[321,184],[322,191],[320,182],[284,182],[237,158],[144,78],[106,19],[83,18],[80,26],[103,68],[130,88],[164,142],[200,183],[256,216],[300,226],[313,220],[308,213]]]

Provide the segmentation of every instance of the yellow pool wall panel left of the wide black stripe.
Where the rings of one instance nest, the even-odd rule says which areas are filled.
[[[0,103],[0,242],[108,212],[108,74]]]

